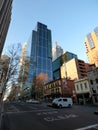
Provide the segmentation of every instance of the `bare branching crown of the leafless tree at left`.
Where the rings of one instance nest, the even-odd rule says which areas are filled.
[[[6,77],[3,81],[3,93],[5,92],[6,87],[10,87],[12,84],[17,82],[17,77],[19,74],[19,63],[20,63],[20,51],[21,44],[13,44],[7,51],[7,56],[9,57],[8,68],[6,68]],[[5,62],[6,65],[6,62]]]

